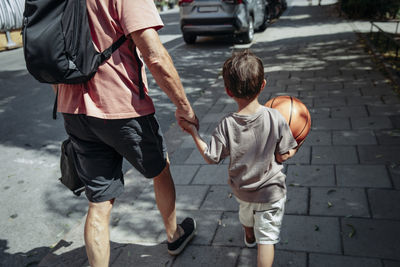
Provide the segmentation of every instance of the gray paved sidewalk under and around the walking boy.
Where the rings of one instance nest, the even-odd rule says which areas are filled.
[[[288,202],[274,266],[400,266],[400,99],[334,6],[294,1],[257,35],[268,86],[261,101],[293,95],[309,107],[312,131],[286,165]],[[179,51],[178,51],[179,52]],[[235,104],[222,79],[194,103],[208,135]],[[177,127],[170,140],[178,220],[198,234],[168,255],[150,181],[131,170],[111,218],[111,266],[256,266],[243,244],[238,205],[226,184],[228,161],[206,165]],[[88,266],[83,223],[40,266]]]

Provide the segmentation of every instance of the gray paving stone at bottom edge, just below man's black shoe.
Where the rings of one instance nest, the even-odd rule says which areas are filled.
[[[240,248],[218,246],[188,246],[172,266],[235,266]]]

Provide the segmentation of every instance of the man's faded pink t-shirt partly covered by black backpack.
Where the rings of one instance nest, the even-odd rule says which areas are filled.
[[[138,30],[163,27],[153,0],[86,2],[93,43],[98,51],[108,48],[123,34],[128,36]],[[144,68],[141,71],[145,99],[139,98],[138,63],[132,49],[136,47],[128,39],[85,84],[60,84],[58,111],[103,119],[125,119],[153,113],[155,109],[147,95]]]

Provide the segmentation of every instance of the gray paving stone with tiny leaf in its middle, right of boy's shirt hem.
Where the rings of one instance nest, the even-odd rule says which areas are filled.
[[[311,215],[369,217],[364,189],[311,188]]]

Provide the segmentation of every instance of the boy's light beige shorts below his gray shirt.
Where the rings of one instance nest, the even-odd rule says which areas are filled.
[[[286,197],[273,203],[239,202],[239,220],[247,227],[254,227],[257,244],[279,242]]]

